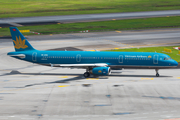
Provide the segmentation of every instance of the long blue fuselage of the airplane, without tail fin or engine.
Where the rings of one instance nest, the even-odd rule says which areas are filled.
[[[178,63],[166,54],[150,52],[91,52],[91,51],[20,51],[8,55],[43,65],[106,63],[111,68],[176,67]],[[15,56],[17,55],[17,56]],[[24,58],[18,55],[25,55]]]

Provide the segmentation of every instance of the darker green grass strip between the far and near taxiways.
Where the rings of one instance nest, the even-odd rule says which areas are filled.
[[[69,23],[69,24],[51,24],[34,25],[18,27],[19,30],[30,30],[42,34],[59,34],[79,32],[83,30],[90,31],[113,31],[113,30],[140,30],[156,28],[178,28],[180,27],[180,16],[143,18],[129,20],[111,20],[101,22]],[[32,33],[23,33],[24,35],[34,35]],[[10,36],[9,28],[0,28],[0,36]]]

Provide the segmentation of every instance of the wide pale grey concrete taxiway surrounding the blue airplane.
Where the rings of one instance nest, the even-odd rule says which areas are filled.
[[[40,50],[179,45],[179,29],[28,36]],[[118,44],[120,42],[121,44]],[[123,44],[122,44],[123,43]],[[166,120],[180,118],[180,70],[113,71],[84,78],[83,69],[40,66],[7,56],[0,40],[0,120]]]

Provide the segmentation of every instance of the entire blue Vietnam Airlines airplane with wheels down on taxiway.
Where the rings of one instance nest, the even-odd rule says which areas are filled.
[[[15,52],[7,55],[51,67],[83,68],[83,76],[108,76],[111,70],[123,68],[159,69],[177,67],[168,55],[153,52],[103,52],[103,51],[42,51],[34,49],[16,27],[10,27]]]

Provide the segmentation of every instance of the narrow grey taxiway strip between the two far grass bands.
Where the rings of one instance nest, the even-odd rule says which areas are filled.
[[[180,10],[165,10],[165,11],[146,11],[146,12],[126,12],[126,13],[3,18],[0,19],[0,27],[43,24],[43,23],[52,24],[52,23],[107,21],[112,19],[135,19],[135,18],[179,16],[179,15],[180,15]]]

